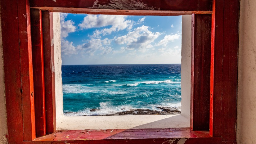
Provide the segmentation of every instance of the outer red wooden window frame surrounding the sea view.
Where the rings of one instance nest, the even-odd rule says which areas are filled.
[[[24,2],[24,3],[22,3]],[[28,1],[26,1],[28,3]],[[6,103],[7,103],[7,125],[8,125],[8,133],[9,133],[9,142],[10,143],[21,143],[23,141],[32,141],[35,138],[35,128],[34,128],[34,93],[33,93],[33,81],[32,81],[32,70],[31,70],[31,49],[30,49],[30,29],[29,29],[29,7],[25,1],[18,1],[17,2],[1,2],[1,19],[2,23],[5,24],[5,27],[2,29],[3,35],[8,37],[3,37],[3,53],[4,53],[4,67],[5,67],[5,82],[6,82]],[[236,82],[237,82],[237,34],[238,34],[238,12],[239,12],[239,2],[232,1],[229,5],[224,5],[224,2],[215,2],[211,3],[211,1],[182,1],[177,4],[170,4],[168,2],[153,2],[153,1],[143,1],[140,2],[140,5],[135,5],[135,8],[123,8],[123,6],[130,5],[131,2],[126,3],[124,1],[124,5],[115,5],[110,4],[106,5],[106,3],[102,3],[102,1],[92,2],[87,6],[82,7],[80,1],[73,1],[73,2],[58,2],[58,1],[51,1],[51,2],[38,2],[38,1],[30,1],[30,7],[32,8],[40,8],[40,9],[49,9],[51,11],[62,11],[62,12],[86,12],[86,13],[120,13],[120,14],[136,14],[138,11],[133,10],[106,10],[110,7],[119,7],[119,9],[136,9],[140,11],[142,15],[179,15],[179,14],[189,14],[189,13],[197,13],[197,14],[209,14],[213,11],[212,15],[212,47],[211,47],[211,81],[210,81],[210,121],[209,121],[209,132],[202,132],[202,131],[195,131],[195,125],[192,125],[192,131],[189,129],[179,129],[176,136],[172,135],[175,129],[170,130],[162,130],[168,131],[167,133],[171,135],[161,134],[161,135],[149,135],[150,137],[135,137],[135,133],[143,133],[145,131],[138,130],[138,131],[102,131],[105,133],[102,137],[97,138],[95,142],[183,142],[183,143],[221,143],[223,142],[235,142],[236,141]],[[226,2],[226,1],[225,1]],[[136,3],[137,4],[137,3]],[[212,10],[213,5],[213,10]],[[18,13],[13,12],[9,13],[7,9],[12,6],[13,9],[10,11],[18,11]],[[19,7],[14,7],[19,6]],[[139,7],[138,7],[139,6]],[[200,7],[198,7],[200,6]],[[67,7],[75,7],[75,8],[67,8]],[[91,10],[91,9],[82,9],[82,8],[103,8],[101,10]],[[155,10],[155,8],[159,7],[160,10],[171,10],[171,11],[147,11],[147,10]],[[223,12],[224,7],[224,12]],[[232,9],[232,13],[229,13],[230,9]],[[174,11],[175,10],[175,11]],[[186,10],[186,11],[182,11]],[[46,11],[47,12],[47,11]],[[24,13],[28,13],[24,19]],[[8,16],[8,17],[6,17]],[[198,15],[199,16],[199,15]],[[205,15],[201,15],[204,17]],[[17,18],[18,17],[18,21]],[[34,17],[33,17],[34,18]],[[197,18],[195,18],[197,20]],[[204,21],[202,18],[200,21]],[[28,20],[28,21],[27,21]],[[45,20],[45,19],[43,19]],[[50,20],[48,20],[50,21]],[[28,22],[28,23],[27,23]],[[43,22],[45,23],[45,22]],[[49,23],[49,27],[51,28],[51,23]],[[51,30],[49,28],[49,31]],[[195,27],[200,29],[200,27]],[[25,32],[23,31],[25,30]],[[202,28],[201,30],[209,30]],[[231,33],[231,30],[235,30]],[[10,35],[11,34],[11,35]],[[47,33],[47,35],[51,33]],[[18,37],[19,36],[19,37]],[[48,39],[48,41],[47,41]],[[51,42],[51,38],[47,38],[44,42]],[[192,41],[195,42],[195,45],[199,44],[200,42],[203,43],[203,38],[201,41]],[[13,42],[12,42],[13,41]],[[204,44],[198,47],[204,47]],[[20,48],[20,52],[17,52],[16,49],[13,48]],[[51,43],[50,43],[51,47]],[[195,54],[198,54],[197,52]],[[225,56],[223,55],[225,54]],[[30,57],[29,57],[30,56]],[[20,62],[21,61],[21,62]],[[30,63],[29,63],[30,62]],[[20,64],[20,65],[16,65]],[[51,63],[50,63],[51,64]],[[51,67],[52,65],[48,65],[45,67],[46,69]],[[194,67],[198,66],[197,63],[194,64]],[[16,73],[14,73],[16,72]],[[194,71],[195,72],[195,71]],[[197,71],[196,71],[197,72]],[[10,75],[7,75],[10,74]],[[46,75],[46,74],[45,74]],[[15,76],[16,79],[13,77]],[[54,76],[54,75],[53,75]],[[51,76],[52,78],[52,76]],[[194,77],[193,77],[194,78]],[[194,79],[195,82],[195,79]],[[22,88],[20,90],[20,88]],[[202,86],[200,87],[202,88]],[[53,91],[52,91],[53,92]],[[194,91],[195,92],[195,91]],[[16,96],[16,97],[12,97]],[[29,97],[28,97],[29,96]],[[195,96],[195,95],[193,95]],[[21,99],[22,97],[22,99]],[[16,100],[15,100],[16,98]],[[49,97],[46,97],[46,100]],[[21,101],[22,100],[22,101]],[[195,99],[193,99],[195,100]],[[198,99],[200,100],[200,98]],[[46,104],[53,104],[54,102],[49,102]],[[200,103],[195,103],[193,101],[193,106],[195,104],[200,105]],[[22,106],[22,108],[20,107]],[[194,107],[195,108],[195,107]],[[54,115],[54,107],[53,115]],[[194,109],[193,109],[194,110]],[[204,109],[203,109],[204,110]],[[47,111],[49,112],[49,111]],[[197,117],[197,113],[192,111],[193,116],[191,117],[192,122],[191,124],[195,124],[195,117]],[[46,117],[51,118],[47,120],[52,121],[52,123],[47,123],[54,125],[54,117],[51,115],[46,115]],[[23,125],[24,124],[24,125]],[[201,124],[201,123],[199,123]],[[15,131],[14,131],[15,129]],[[47,129],[47,127],[46,127]],[[49,128],[48,128],[49,130]],[[52,129],[54,131],[54,128]],[[17,133],[18,132],[18,133]],[[76,134],[82,133],[83,131],[72,131]],[[47,135],[47,137],[38,137],[34,141],[41,141],[47,140],[52,141],[52,138],[57,136],[55,140],[57,140],[60,136],[66,136],[66,139],[62,139],[61,142],[79,142],[79,140],[83,140],[84,138],[88,138],[88,136],[83,138],[75,138],[70,137],[72,132],[65,131],[58,132],[54,134]],[[88,131],[87,131],[88,132]],[[85,133],[87,133],[85,132]],[[96,131],[94,131],[96,132]],[[109,133],[108,133],[109,132]],[[107,140],[111,139],[110,133],[115,132],[112,135],[114,140]],[[128,137],[127,140],[127,133],[133,133],[133,139]],[[155,132],[155,131],[154,131]],[[84,133],[84,132],[83,132]],[[89,133],[89,132],[88,132]],[[107,133],[107,134],[106,134]],[[187,133],[187,135],[183,135],[182,133]],[[97,133],[95,133],[97,134]],[[125,135],[123,135],[125,134]],[[151,133],[153,134],[153,133]],[[18,136],[19,135],[19,136]],[[69,135],[69,136],[67,136]],[[14,137],[16,136],[16,137]],[[114,137],[115,136],[115,137]],[[152,138],[153,137],[153,138]],[[185,137],[185,138],[184,138]],[[49,139],[47,139],[49,138]],[[156,138],[156,139],[154,139]],[[167,138],[167,139],[165,139]],[[72,141],[71,141],[72,139]],[[73,141],[73,140],[77,141]],[[92,138],[94,139],[94,138]],[[61,139],[59,139],[61,140]],[[88,140],[92,141],[92,140]],[[81,141],[80,141],[81,142]],[[28,142],[29,143],[29,142]],[[35,142],[36,143],[36,142]]]

